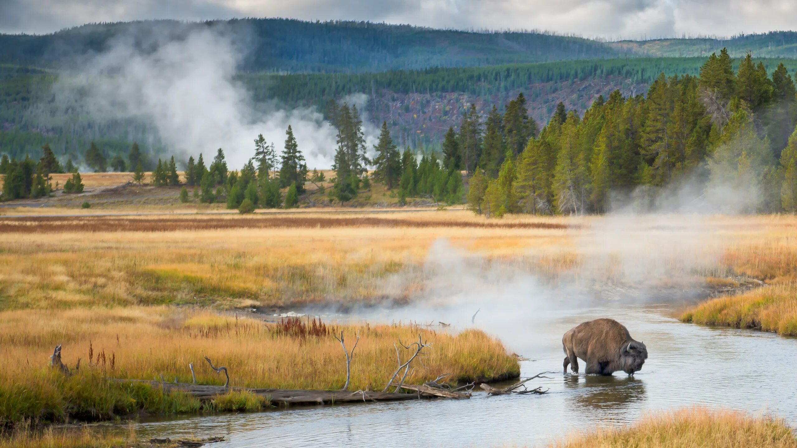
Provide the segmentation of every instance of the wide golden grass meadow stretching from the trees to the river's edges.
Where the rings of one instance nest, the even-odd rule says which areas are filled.
[[[274,332],[274,324],[229,313],[414,300],[430,248],[441,239],[461,257],[507,262],[554,282],[582,277],[622,284],[630,277],[615,262],[620,259],[672,281],[690,277],[732,288],[758,279],[767,286],[717,297],[683,319],[797,333],[793,216],[487,220],[455,210],[303,210],[0,217],[0,235],[0,326],[10,329],[0,335],[0,414],[6,422],[197,411],[199,404],[184,396],[120,389],[104,376],[185,381],[189,363],[206,367],[202,356],[230,367],[236,386],[340,387],[343,354],[331,336],[297,339]],[[397,276],[402,289],[387,289]],[[358,332],[362,338],[352,363],[354,390],[381,389],[395,368],[393,343],[418,334],[434,349],[412,383],[439,373],[478,379],[518,371],[516,359],[483,332],[406,324],[338,327],[349,341]],[[44,367],[59,343],[70,366],[82,359],[80,375],[62,379]],[[104,352],[104,367],[96,360],[88,367],[89,347],[95,356]],[[202,367],[199,382],[221,381]]]

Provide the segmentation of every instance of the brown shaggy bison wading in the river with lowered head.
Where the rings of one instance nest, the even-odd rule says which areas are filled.
[[[642,369],[647,348],[633,340],[628,329],[614,319],[595,319],[576,325],[562,336],[564,371],[567,364],[579,372],[579,358],[587,363],[588,374],[611,375],[622,370],[628,375]]]

